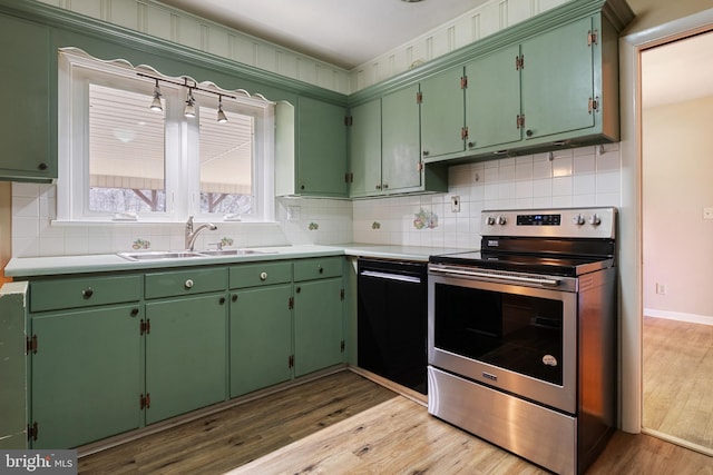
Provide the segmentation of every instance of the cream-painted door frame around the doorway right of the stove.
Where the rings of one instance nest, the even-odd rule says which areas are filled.
[[[619,427],[642,432],[643,229],[641,53],[713,29],[713,9],[619,39],[622,201],[619,219]]]

